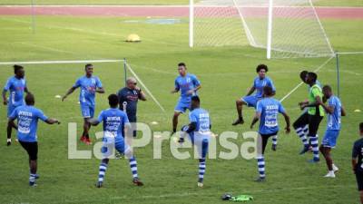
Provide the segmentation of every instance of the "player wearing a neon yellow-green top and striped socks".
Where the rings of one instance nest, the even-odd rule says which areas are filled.
[[[305,108],[309,108],[308,117],[304,118],[301,121],[301,126],[305,126],[309,124],[309,140],[311,141],[313,159],[309,160],[311,163],[319,162],[319,141],[318,141],[318,130],[319,124],[323,120],[324,117],[324,109],[320,105],[321,100],[323,98],[323,93],[321,88],[316,83],[318,79],[318,75],[316,73],[308,73],[306,82],[309,84],[309,102],[299,102],[299,106],[301,110]],[[304,142],[304,148],[300,152],[300,154],[304,154],[309,151],[309,143],[308,141]]]

